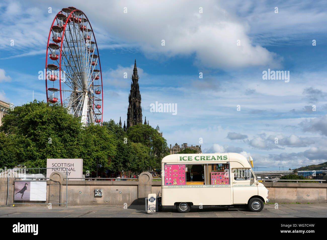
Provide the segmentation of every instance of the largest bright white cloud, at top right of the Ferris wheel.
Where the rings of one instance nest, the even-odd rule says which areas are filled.
[[[125,6],[128,13],[123,14]],[[210,68],[279,64],[276,54],[252,45],[248,26],[231,12],[215,1],[202,2],[201,7],[203,14],[198,13],[198,2],[115,2],[104,16],[109,32],[126,42],[137,42],[149,58],[195,54],[198,66]]]

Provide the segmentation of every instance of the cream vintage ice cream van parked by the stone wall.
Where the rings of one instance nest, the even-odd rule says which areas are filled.
[[[248,207],[260,212],[268,189],[253,174],[253,160],[239,153],[171,154],[161,161],[162,206]]]

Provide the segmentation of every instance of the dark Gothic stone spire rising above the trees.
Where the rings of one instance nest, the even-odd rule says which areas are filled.
[[[139,75],[137,74],[136,59],[134,63],[133,75],[131,77],[130,93],[128,96],[129,106],[127,109],[127,126],[126,130],[133,125],[142,123],[141,94],[139,90]]]

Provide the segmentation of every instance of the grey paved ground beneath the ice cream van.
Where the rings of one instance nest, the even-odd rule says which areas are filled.
[[[0,217],[327,217],[327,204],[265,204],[259,213],[247,209],[228,210],[222,207],[199,209],[193,206],[189,213],[178,213],[175,207],[165,207],[155,215],[145,213],[144,205],[68,206],[66,207],[0,207]]]

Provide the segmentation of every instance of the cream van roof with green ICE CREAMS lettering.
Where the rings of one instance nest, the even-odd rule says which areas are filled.
[[[251,168],[245,156],[235,153],[193,153],[193,154],[170,154],[161,160],[161,163],[219,163],[219,162],[239,162],[246,168]]]

